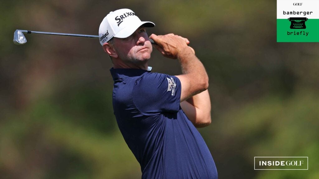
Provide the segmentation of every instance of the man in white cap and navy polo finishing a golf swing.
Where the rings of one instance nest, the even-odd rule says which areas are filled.
[[[217,178],[210,151],[196,127],[211,123],[208,76],[189,40],[174,34],[148,37],[133,11],[110,12],[100,43],[113,68],[113,108],[120,131],[141,165],[142,178]],[[182,75],[151,73],[152,44],[178,59]]]

